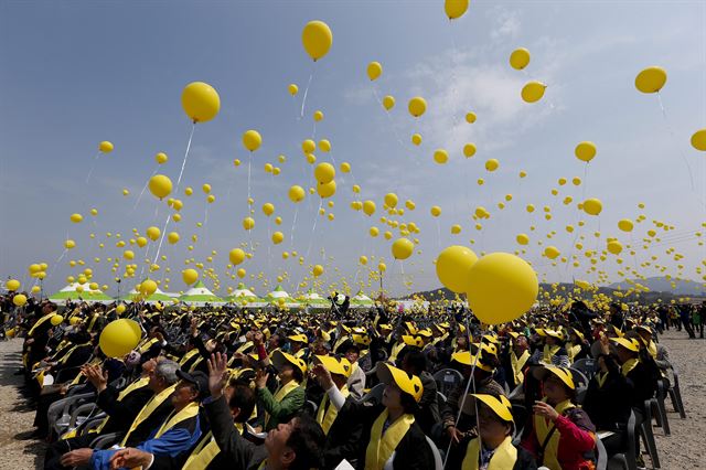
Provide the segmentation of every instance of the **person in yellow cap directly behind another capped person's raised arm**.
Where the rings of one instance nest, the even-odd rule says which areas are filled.
[[[312,374],[318,378],[322,388],[328,387],[330,378],[344,398],[351,395],[346,380],[352,367],[344,357],[339,360],[329,355],[314,356],[312,362],[314,364]],[[322,378],[323,376],[325,378]],[[339,409],[325,393],[317,409],[315,418],[327,435],[327,445],[323,451],[324,468],[335,468],[343,459],[351,461],[357,458],[359,441],[363,432],[361,423],[339,419]]]

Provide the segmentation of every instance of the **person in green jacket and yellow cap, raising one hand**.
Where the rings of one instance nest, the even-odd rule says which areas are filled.
[[[272,365],[277,371],[279,386],[272,394],[267,388],[269,373],[259,370],[255,378],[258,408],[265,410],[263,429],[275,429],[280,423],[289,421],[304,404],[304,388],[301,386],[307,364],[303,360],[277,350],[272,353]]]

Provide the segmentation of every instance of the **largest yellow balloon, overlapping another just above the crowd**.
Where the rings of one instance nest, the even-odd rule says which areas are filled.
[[[468,303],[473,314],[488,324],[522,317],[539,292],[537,275],[524,259],[509,253],[480,258],[468,277]]]

